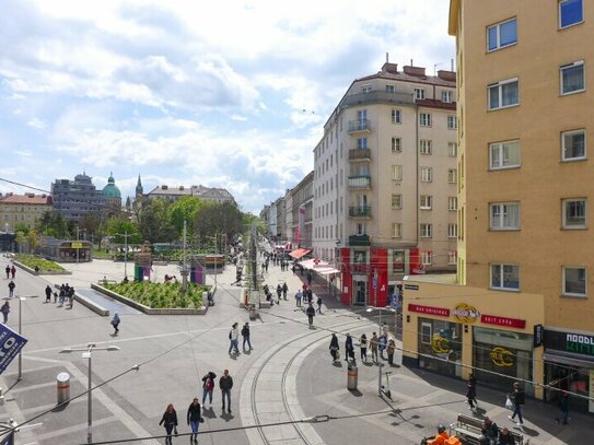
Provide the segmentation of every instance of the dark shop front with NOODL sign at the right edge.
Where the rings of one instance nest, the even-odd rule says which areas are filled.
[[[594,412],[594,332],[546,328],[545,382],[582,397],[571,397],[571,409]],[[547,389],[546,400],[558,402],[559,391]]]

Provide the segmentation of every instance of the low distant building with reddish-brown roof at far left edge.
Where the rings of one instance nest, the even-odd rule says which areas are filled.
[[[34,227],[35,222],[51,210],[51,197],[48,195],[0,195],[0,230],[14,232],[16,225]]]

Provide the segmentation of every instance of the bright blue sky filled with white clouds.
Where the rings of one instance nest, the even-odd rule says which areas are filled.
[[[140,174],[144,192],[222,187],[257,214],[313,171],[324,122],[386,52],[450,69],[449,3],[2,0],[0,178],[113,172],[125,201]]]

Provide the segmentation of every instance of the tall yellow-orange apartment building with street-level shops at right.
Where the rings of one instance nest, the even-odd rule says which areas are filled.
[[[406,282],[406,359],[594,412],[594,4],[451,0],[449,32],[458,270]]]

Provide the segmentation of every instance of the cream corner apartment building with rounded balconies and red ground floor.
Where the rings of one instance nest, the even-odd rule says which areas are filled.
[[[381,305],[405,274],[456,267],[456,73],[386,62],[357,79],[314,150],[314,254],[341,301]]]

